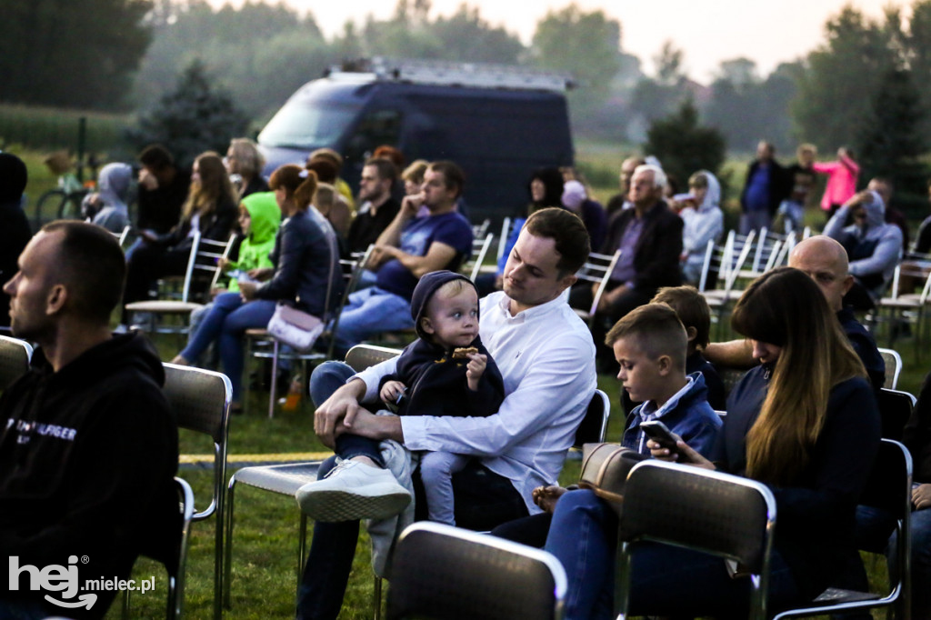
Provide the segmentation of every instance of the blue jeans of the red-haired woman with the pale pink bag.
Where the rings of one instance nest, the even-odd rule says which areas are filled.
[[[237,292],[217,295],[210,310],[194,338],[184,347],[182,357],[194,360],[217,340],[220,343],[220,360],[223,371],[233,384],[233,400],[238,401],[242,395],[243,345],[242,337],[246,330],[264,328],[275,314],[275,302],[263,299],[243,303]]]

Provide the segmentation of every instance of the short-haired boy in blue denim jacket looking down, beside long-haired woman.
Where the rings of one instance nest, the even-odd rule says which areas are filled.
[[[721,418],[708,405],[701,372],[685,374],[688,336],[675,310],[665,303],[642,305],[614,324],[605,343],[614,349],[625,391],[642,403],[627,415],[621,445],[649,455],[650,437],[641,425],[656,421],[696,451],[710,451]]]

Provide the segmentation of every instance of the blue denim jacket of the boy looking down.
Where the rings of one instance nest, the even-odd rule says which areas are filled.
[[[660,420],[668,429],[682,438],[685,443],[702,456],[708,456],[721,418],[708,405],[708,387],[701,372],[688,376],[688,384],[669,398],[659,409],[652,400],[648,400],[630,411],[627,416],[627,430],[621,438],[621,445],[631,450],[650,454],[646,447],[646,437],[640,425],[647,420]]]

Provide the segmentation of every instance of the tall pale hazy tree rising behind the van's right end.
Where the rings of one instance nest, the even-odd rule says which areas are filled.
[[[548,11],[536,24],[531,58],[538,67],[573,74],[580,85],[570,93],[573,118],[584,118],[607,99],[621,68],[621,24],[575,4]]]

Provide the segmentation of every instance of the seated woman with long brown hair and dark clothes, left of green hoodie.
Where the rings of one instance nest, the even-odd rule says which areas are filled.
[[[238,213],[223,159],[212,151],[197,155],[181,222],[165,235],[141,231],[142,245],[128,254],[123,302],[145,299],[156,278],[181,276],[191,255],[194,231],[204,238],[225,241]]]

